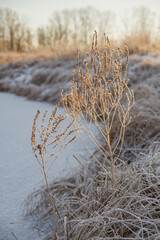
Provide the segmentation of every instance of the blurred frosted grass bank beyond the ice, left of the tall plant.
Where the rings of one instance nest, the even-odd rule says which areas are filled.
[[[69,89],[74,60],[32,60],[0,66],[0,91],[29,99],[57,103],[61,90]]]

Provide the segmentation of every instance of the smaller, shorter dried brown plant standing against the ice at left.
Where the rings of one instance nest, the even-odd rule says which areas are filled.
[[[50,115],[47,122],[47,111],[42,117],[41,128],[38,128],[38,118],[40,111],[34,118],[34,123],[32,127],[31,145],[33,153],[38,160],[41,167],[41,171],[45,177],[45,184],[49,194],[50,203],[53,211],[54,226],[55,230],[58,229],[58,219],[62,222],[62,217],[60,212],[56,207],[54,196],[50,193],[50,187],[48,183],[48,171],[59,157],[61,152],[76,138],[74,134],[78,129],[73,129],[73,120],[69,122],[65,129],[62,128],[61,124],[66,120],[67,115],[63,116],[59,114],[57,116],[57,109],[59,104],[56,105],[52,114]],[[46,125],[46,126],[45,126]],[[57,218],[58,217],[58,218]]]

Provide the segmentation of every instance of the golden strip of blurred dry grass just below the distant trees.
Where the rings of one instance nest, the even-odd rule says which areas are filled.
[[[117,46],[118,40],[112,40],[113,47]],[[119,45],[121,45],[121,49],[124,48],[124,45],[128,46],[129,52],[132,54],[147,54],[147,53],[155,53],[156,55],[160,55],[159,44],[142,44],[140,40],[134,39],[133,36],[130,38],[125,38],[120,41]],[[84,57],[87,52],[88,46],[78,45],[79,52],[81,56]],[[30,52],[1,52],[0,54],[0,65],[6,63],[14,63],[21,62],[26,63],[32,60],[47,60],[47,59],[71,59],[76,57],[77,55],[77,47],[73,47],[72,44],[65,46],[64,44],[59,45],[53,49],[48,47],[38,47]],[[103,43],[99,48],[103,49]]]

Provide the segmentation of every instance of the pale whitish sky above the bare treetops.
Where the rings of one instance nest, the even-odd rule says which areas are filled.
[[[117,15],[123,14],[125,9],[146,6],[160,15],[160,0],[0,0],[0,7],[12,8],[21,17],[27,17],[32,28],[46,25],[56,10],[82,8],[88,5],[101,11],[111,10]]]

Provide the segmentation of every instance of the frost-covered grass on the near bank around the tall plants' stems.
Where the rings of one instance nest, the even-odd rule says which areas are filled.
[[[66,220],[66,239],[159,239],[160,99],[156,89],[154,94],[146,91],[147,98],[143,92],[144,88],[141,94],[139,88],[137,94],[135,91],[132,121],[126,129],[120,155],[124,163],[115,168],[115,192],[93,158],[76,173],[68,173],[69,177],[50,185],[63,221]],[[114,138],[116,127],[111,133]],[[106,166],[98,151],[95,155]],[[27,201],[27,214],[47,230],[51,235],[47,239],[54,239],[47,190],[44,187],[37,190]],[[65,239],[64,235],[63,226],[60,239]]]

